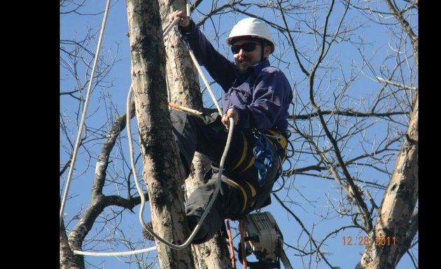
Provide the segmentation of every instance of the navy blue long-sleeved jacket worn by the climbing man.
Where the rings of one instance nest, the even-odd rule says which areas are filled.
[[[239,72],[235,63],[218,53],[194,22],[190,23],[190,32],[184,32],[181,27],[179,32],[197,61],[223,88],[223,113],[230,108],[237,110],[237,127],[241,130],[287,130],[293,92],[285,74],[270,67],[268,60],[248,67],[244,73]]]

